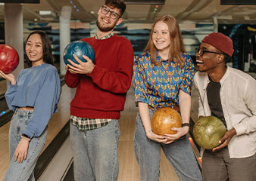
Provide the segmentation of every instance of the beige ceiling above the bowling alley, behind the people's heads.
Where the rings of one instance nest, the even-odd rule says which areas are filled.
[[[70,3],[72,2],[72,3]],[[83,23],[96,20],[104,0],[40,0],[40,4],[22,4],[23,20],[58,22],[63,6],[72,7],[72,20]],[[75,8],[73,8],[75,6]],[[79,11],[77,11],[79,9]],[[5,20],[5,5],[0,4],[0,21]],[[40,15],[39,11],[52,11]],[[256,23],[256,5],[220,5],[220,0],[165,0],[164,5],[126,5],[124,22],[150,23],[163,14],[172,14],[180,22]],[[216,21],[217,20],[217,21]]]

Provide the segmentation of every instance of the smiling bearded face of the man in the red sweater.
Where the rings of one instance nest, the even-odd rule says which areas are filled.
[[[108,5],[104,5],[104,7],[109,8],[109,12],[107,14],[103,14],[101,9],[98,10],[98,19],[97,19],[97,27],[101,32],[110,32],[114,29],[114,26],[119,25],[122,22],[122,18],[117,17],[117,19],[111,18],[111,11],[114,11],[116,14],[120,14],[120,9],[111,8]]]

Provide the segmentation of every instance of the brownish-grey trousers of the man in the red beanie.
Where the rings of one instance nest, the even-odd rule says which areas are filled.
[[[230,158],[229,149],[205,150],[202,176],[204,181],[256,181],[256,154],[247,158]]]

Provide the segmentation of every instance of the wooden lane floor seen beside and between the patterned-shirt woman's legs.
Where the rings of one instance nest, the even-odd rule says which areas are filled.
[[[138,108],[134,103],[134,90],[130,87],[127,93],[126,104],[120,117],[120,141],[118,147],[119,174],[117,181],[139,181],[139,165],[136,161],[133,147],[134,130]],[[178,176],[172,165],[169,164],[164,152],[161,151],[160,181],[178,181]]]

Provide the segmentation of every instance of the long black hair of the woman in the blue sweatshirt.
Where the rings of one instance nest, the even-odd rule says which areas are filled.
[[[48,38],[48,35],[43,31],[36,30],[36,31],[31,32],[30,35],[28,35],[27,41],[30,38],[30,36],[33,35],[33,34],[40,35],[40,37],[41,37],[41,40],[42,40],[42,54],[43,54],[42,59],[43,59],[43,61],[45,63],[49,63],[49,64],[52,64],[54,66],[53,57],[52,57],[52,46],[51,46],[51,41]],[[27,44],[27,41],[26,41],[26,44]],[[25,59],[27,61],[27,65],[29,67],[31,67],[32,62],[30,61],[29,57],[27,57],[27,54],[25,54]]]

